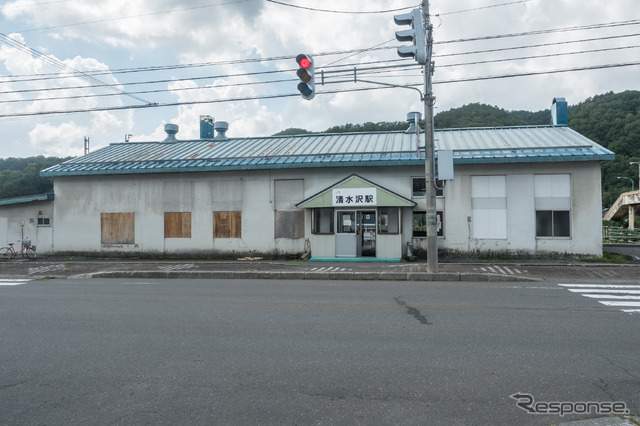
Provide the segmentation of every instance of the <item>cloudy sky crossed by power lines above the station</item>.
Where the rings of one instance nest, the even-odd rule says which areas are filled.
[[[422,88],[393,22],[418,3],[0,1],[0,157],[162,140],[165,123],[198,138],[200,115],[230,137],[405,120],[419,93],[378,83]],[[432,0],[430,15],[436,112],[640,89],[637,0]],[[297,94],[299,53],[325,72],[311,101]]]

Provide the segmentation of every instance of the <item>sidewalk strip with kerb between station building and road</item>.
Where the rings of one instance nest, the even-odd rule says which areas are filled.
[[[14,260],[0,263],[0,278],[174,278],[293,279],[389,281],[632,281],[640,265],[578,262],[438,265],[428,273],[424,262],[202,261],[202,260]]]

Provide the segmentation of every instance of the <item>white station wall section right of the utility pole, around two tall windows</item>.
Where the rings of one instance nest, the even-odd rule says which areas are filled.
[[[455,251],[602,254],[601,177],[598,162],[456,166],[445,189],[445,238],[439,247]],[[536,238],[535,174],[569,174],[571,237]],[[507,239],[474,239],[471,176],[506,175]]]

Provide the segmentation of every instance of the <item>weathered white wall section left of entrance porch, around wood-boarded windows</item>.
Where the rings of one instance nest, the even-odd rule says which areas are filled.
[[[274,177],[275,176],[275,177]],[[273,180],[269,171],[58,177],[54,180],[56,251],[131,253],[299,253],[302,239],[274,239]],[[213,199],[213,182],[239,182],[241,204],[225,209]],[[167,182],[191,183],[187,205],[166,206]],[[242,211],[242,238],[213,238],[213,211]],[[164,238],[164,213],[191,211],[191,238]],[[101,244],[101,213],[135,213],[134,244]],[[82,229],[82,232],[77,232]]]

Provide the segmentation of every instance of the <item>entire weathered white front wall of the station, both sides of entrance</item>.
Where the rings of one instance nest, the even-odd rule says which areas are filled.
[[[144,252],[144,253],[278,253],[304,250],[310,240],[312,255],[333,257],[333,236],[311,234],[311,213],[305,212],[304,238],[274,238],[274,181],[303,179],[304,197],[314,195],[343,178],[356,173],[374,183],[411,199],[411,178],[424,174],[423,167],[322,168],[239,171],[218,173],[165,173],[130,176],[57,177],[55,184],[54,246],[56,251]],[[536,239],[533,176],[569,173],[571,175],[571,238]],[[473,239],[471,231],[471,177],[506,175],[507,233],[502,240]],[[230,210],[242,210],[242,238],[214,239],[212,212],[221,210],[213,187],[221,181],[236,182],[241,188],[240,202],[230,202]],[[192,237],[164,238],[165,210],[163,188],[167,182],[191,182]],[[240,182],[238,184],[237,182]],[[239,186],[238,186],[239,185]],[[598,162],[526,163],[455,166],[455,179],[437,199],[444,210],[445,237],[442,249],[504,252],[560,252],[598,255],[601,244],[601,192]],[[301,201],[301,200],[300,200]],[[415,210],[425,210],[424,198],[414,199]],[[239,204],[238,204],[239,203]],[[135,243],[101,244],[100,213],[135,212]],[[412,238],[411,209],[402,209],[402,233],[382,239],[378,235],[378,257],[404,256],[407,242],[416,248],[424,239]],[[1,224],[0,224],[1,225]],[[0,229],[1,236],[1,229]],[[386,240],[389,244],[385,244]],[[397,253],[396,253],[397,251]]]

